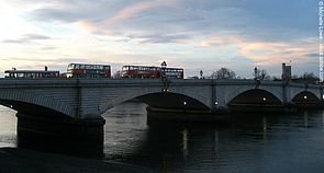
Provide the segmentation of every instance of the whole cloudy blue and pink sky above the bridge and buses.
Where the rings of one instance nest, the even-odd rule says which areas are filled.
[[[316,0],[0,0],[0,77],[70,62],[319,76]]]

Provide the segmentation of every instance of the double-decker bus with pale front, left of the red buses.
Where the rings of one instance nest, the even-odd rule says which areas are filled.
[[[67,78],[111,78],[109,65],[69,64]]]

